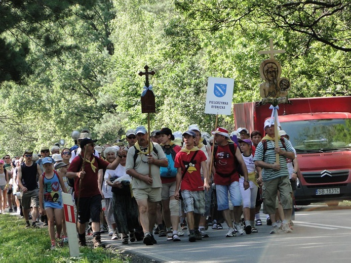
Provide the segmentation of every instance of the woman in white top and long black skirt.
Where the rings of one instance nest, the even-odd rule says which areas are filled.
[[[106,153],[106,151],[105,151]],[[128,244],[128,232],[130,242],[135,241],[134,229],[139,227],[138,205],[132,197],[130,188],[131,177],[126,173],[127,149],[121,148],[118,158],[121,159],[120,165],[115,170],[106,170],[108,180],[112,187],[112,203],[115,222],[118,231],[122,234],[122,244]]]

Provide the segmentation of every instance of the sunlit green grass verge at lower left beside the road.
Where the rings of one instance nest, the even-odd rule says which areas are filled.
[[[69,256],[68,246],[50,250],[48,228],[25,229],[24,219],[0,214],[0,262],[126,262],[117,251],[81,247],[80,258]]]

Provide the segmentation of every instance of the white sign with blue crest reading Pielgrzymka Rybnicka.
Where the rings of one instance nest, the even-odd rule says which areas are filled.
[[[209,77],[205,113],[231,115],[234,79]]]

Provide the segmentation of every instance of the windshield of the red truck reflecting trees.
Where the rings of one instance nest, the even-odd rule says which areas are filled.
[[[296,151],[334,151],[351,147],[351,119],[281,122]]]

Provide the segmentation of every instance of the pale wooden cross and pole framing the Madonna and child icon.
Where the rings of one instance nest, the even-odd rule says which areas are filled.
[[[280,73],[281,73],[281,66],[279,64],[278,61],[276,61],[274,59],[274,54],[276,53],[285,53],[285,50],[275,50],[274,47],[273,47],[273,39],[272,38],[269,38],[269,50],[267,51],[259,51],[258,54],[269,54],[270,55],[270,59],[268,60],[265,60],[261,63],[261,66],[260,66],[260,74],[261,76],[264,75],[264,68],[266,65],[268,65],[268,63],[276,63],[277,65],[277,71],[278,71],[278,74],[277,74],[277,78],[280,78]],[[263,78],[263,77],[262,77]],[[278,79],[277,79],[278,80]],[[289,80],[288,80],[289,81]],[[273,105],[273,106],[277,106],[278,105],[278,102],[275,103],[276,105]],[[277,122],[277,118],[278,118],[278,110],[276,108],[272,109],[273,111],[276,111],[275,112],[275,117],[274,117],[274,133],[275,133],[275,147],[279,147],[279,143],[278,143],[278,140],[279,140],[279,133],[278,133],[278,122]],[[279,164],[279,154],[277,153],[276,154],[276,163]]]

